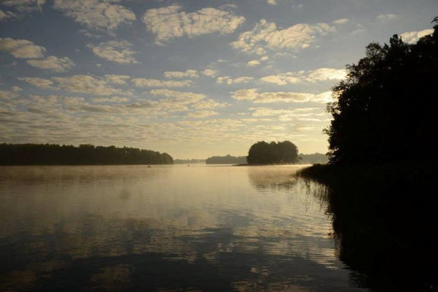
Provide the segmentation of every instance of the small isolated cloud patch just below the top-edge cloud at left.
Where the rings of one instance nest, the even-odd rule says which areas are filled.
[[[137,51],[131,49],[131,42],[126,40],[116,41],[111,40],[109,42],[101,42],[100,44],[88,44],[92,52],[105,60],[120,64],[136,64],[139,63],[133,55],[137,54]]]

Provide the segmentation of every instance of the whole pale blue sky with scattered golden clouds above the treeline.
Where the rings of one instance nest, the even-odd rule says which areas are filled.
[[[330,89],[437,0],[0,0],[0,143],[327,152]]]

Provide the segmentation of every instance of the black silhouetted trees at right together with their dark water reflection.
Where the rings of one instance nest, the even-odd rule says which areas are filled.
[[[327,106],[330,161],[297,175],[327,187],[339,259],[355,281],[373,291],[436,291],[438,25],[414,44],[398,35],[368,44],[347,68]]]

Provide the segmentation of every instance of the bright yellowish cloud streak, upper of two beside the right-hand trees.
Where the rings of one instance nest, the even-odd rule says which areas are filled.
[[[342,80],[347,76],[346,70],[334,68],[318,68],[316,70],[286,72],[277,75],[264,76],[260,79],[262,82],[274,83],[280,86],[292,83],[314,83],[317,81]]]

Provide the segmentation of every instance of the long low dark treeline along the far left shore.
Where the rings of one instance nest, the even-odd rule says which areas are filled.
[[[167,153],[94,145],[0,144],[0,165],[172,164]]]

